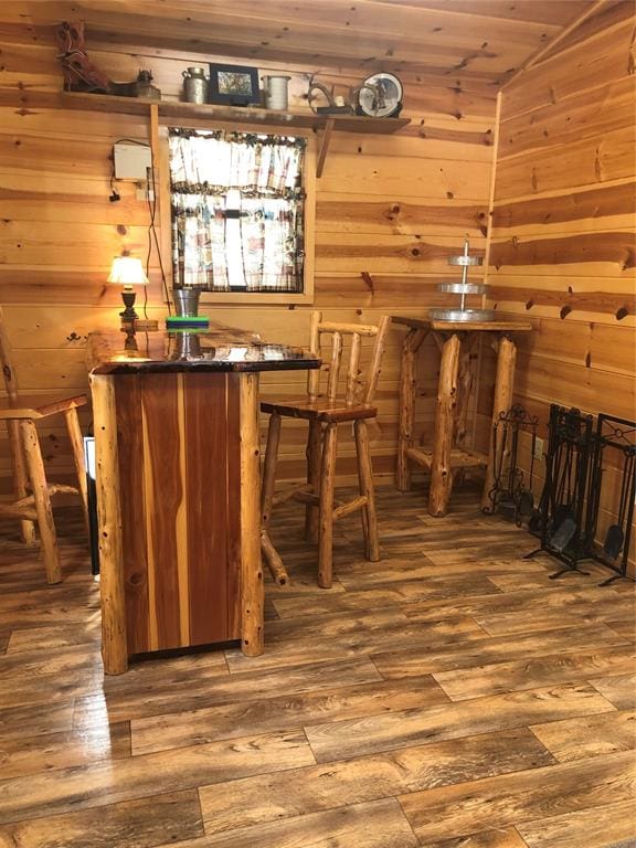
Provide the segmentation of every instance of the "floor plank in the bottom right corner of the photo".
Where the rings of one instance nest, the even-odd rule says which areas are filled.
[[[519,825],[530,848],[612,848],[617,842],[636,845],[636,816],[633,802],[608,804],[603,815],[595,807],[565,813]]]

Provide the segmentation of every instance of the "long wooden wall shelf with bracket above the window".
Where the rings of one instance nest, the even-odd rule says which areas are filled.
[[[160,118],[173,118],[180,121],[195,118],[225,124],[251,124],[255,127],[310,129],[314,132],[321,132],[321,145],[316,165],[317,177],[322,176],[325,159],[333,131],[391,135],[411,123],[410,118],[367,118],[357,115],[314,115],[312,113],[292,114],[248,107],[180,103],[179,100],[145,100],[138,97],[117,97],[109,94],[39,92],[34,89],[0,91],[0,106],[18,106],[24,109],[80,109],[148,116],[151,105],[157,106]]]

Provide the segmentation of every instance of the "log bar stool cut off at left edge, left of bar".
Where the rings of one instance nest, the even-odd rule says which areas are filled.
[[[0,410],[0,421],[7,423],[9,434],[14,495],[13,501],[0,504],[0,517],[8,516],[20,519],[20,534],[25,544],[35,544],[35,523],[38,524],[44,569],[46,571],[46,582],[60,583],[62,570],[60,566],[60,552],[57,550],[51,497],[62,492],[78,494],[84,508],[84,519],[86,526],[88,526],[84,447],[77,418],[77,407],[86,403],[86,396],[78,395],[36,409],[20,409],[18,406],[18,383],[10,361],[10,348],[1,309],[0,367],[4,377],[4,386],[10,407]],[[77,471],[77,487],[46,481],[35,422],[57,413],[63,414],[66,420],[73,462]]]

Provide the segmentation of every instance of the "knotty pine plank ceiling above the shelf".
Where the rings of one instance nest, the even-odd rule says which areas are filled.
[[[626,2],[628,0],[618,0]],[[84,20],[87,42],[460,77],[501,85],[582,14],[617,0],[31,0],[10,26]]]

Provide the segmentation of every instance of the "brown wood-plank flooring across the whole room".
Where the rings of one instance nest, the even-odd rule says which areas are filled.
[[[378,507],[382,561],[339,522],[328,591],[301,508],[275,512],[293,585],[267,584],[262,657],[109,678],[75,512],[56,586],[2,524],[0,847],[636,845],[634,584],[550,580],[470,491]]]

